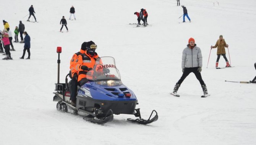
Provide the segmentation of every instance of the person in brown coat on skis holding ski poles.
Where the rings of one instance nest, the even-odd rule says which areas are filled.
[[[216,65],[215,67],[218,68],[218,64],[219,64],[219,59],[220,59],[220,55],[223,56],[223,58],[226,61],[226,67],[231,67],[230,64],[228,63],[228,59],[226,57],[226,51],[225,51],[225,47],[228,47],[228,44],[226,44],[225,40],[223,39],[223,36],[220,35],[219,39],[217,40],[215,46],[211,46],[212,48],[216,48],[217,47],[217,60],[216,60]]]

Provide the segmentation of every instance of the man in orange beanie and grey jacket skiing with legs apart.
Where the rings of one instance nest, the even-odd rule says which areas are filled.
[[[208,92],[207,92],[206,84],[204,84],[204,81],[201,76],[202,59],[203,59],[201,49],[196,46],[195,40],[193,38],[190,38],[188,40],[188,43],[189,44],[182,52],[181,68],[182,68],[183,74],[180,80],[175,84],[175,87],[171,94],[179,97],[179,95],[177,95],[177,91],[181,83],[190,73],[194,73],[196,75],[196,78],[200,82],[204,92],[204,96],[201,96],[201,97],[206,97],[208,95]]]

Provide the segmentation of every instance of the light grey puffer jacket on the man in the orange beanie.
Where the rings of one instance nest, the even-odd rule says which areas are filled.
[[[193,49],[187,47],[182,52],[182,63],[181,68],[196,68],[196,67],[202,67],[203,57],[201,53],[201,49],[196,46]]]

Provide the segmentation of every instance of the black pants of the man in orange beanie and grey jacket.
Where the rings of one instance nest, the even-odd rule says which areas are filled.
[[[196,67],[196,68],[185,68],[184,72],[183,72],[182,76],[180,77],[180,80],[177,82],[177,84],[181,84],[190,73],[194,73],[194,75],[196,75],[196,79],[198,79],[200,84],[205,85],[204,81],[202,79],[201,73],[198,72],[198,67]]]

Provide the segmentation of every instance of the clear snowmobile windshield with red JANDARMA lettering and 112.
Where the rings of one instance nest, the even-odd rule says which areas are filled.
[[[93,69],[87,72],[86,77],[99,85],[122,85],[113,57],[98,58]]]

